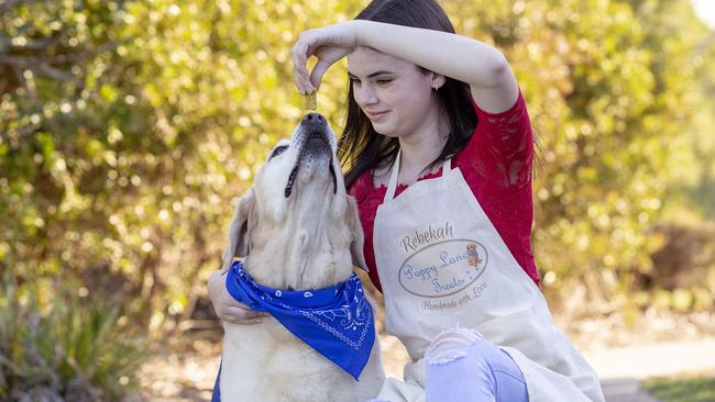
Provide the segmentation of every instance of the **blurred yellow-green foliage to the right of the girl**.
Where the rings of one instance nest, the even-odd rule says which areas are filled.
[[[651,231],[663,205],[691,208],[688,183],[712,177],[712,135],[695,120],[715,115],[712,35],[689,1],[469,3],[450,2],[468,15],[458,31],[505,52],[541,143],[534,246],[547,295],[632,303],[664,241]]]

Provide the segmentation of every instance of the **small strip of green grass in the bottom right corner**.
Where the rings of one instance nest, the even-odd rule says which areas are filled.
[[[653,378],[646,380],[642,387],[663,402],[715,401],[715,378],[713,377]]]

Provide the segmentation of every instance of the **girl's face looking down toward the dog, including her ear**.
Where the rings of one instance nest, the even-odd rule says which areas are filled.
[[[443,77],[369,47],[348,55],[353,98],[380,134],[400,137],[437,119],[439,104],[433,85]]]

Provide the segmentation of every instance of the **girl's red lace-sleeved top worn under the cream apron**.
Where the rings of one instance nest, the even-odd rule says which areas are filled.
[[[488,113],[472,102],[479,123],[466,146],[452,159],[452,168],[462,170],[464,180],[474,192],[482,209],[502,236],[526,273],[539,284],[539,273],[531,253],[531,165],[534,133],[521,92],[516,103],[502,113]],[[441,168],[418,180],[439,177]],[[406,185],[398,183],[395,197]],[[387,188],[374,187],[372,171],[365,171],[350,187],[358,201],[360,221],[365,234],[365,261],[370,278],[382,291],[375,266],[373,226],[377,206],[383,203]]]

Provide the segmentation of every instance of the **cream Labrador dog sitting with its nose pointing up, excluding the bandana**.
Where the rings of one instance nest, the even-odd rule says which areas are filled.
[[[308,290],[354,279],[353,266],[365,267],[363,233],[337,148],[334,133],[318,113],[306,114],[290,139],[278,142],[239,200],[223,269],[235,268],[235,258],[243,257],[254,284],[276,293],[306,290],[312,295]],[[356,315],[366,313],[358,309]],[[385,380],[374,325],[367,334],[374,343],[358,380],[274,316],[256,325],[224,322],[223,328],[221,401],[366,401]]]

